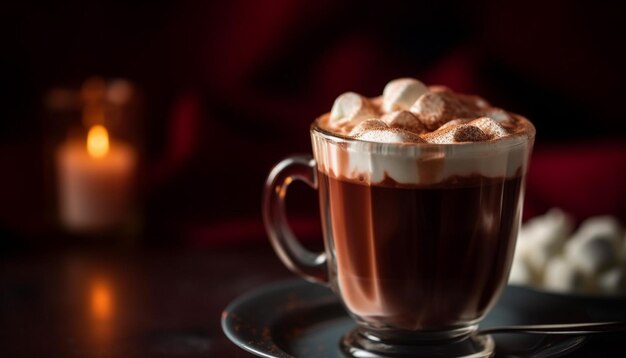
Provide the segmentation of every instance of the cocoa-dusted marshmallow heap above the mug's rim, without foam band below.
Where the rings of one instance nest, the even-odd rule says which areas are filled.
[[[493,107],[478,96],[455,93],[443,86],[426,87],[413,78],[389,82],[382,97],[344,93],[335,100],[330,115],[322,117],[319,124],[330,132],[362,140],[379,138],[388,143],[392,138],[399,141],[406,137],[392,133],[363,137],[360,130],[353,131],[370,119],[384,122],[390,132],[402,129],[420,136],[421,142],[437,144],[498,140],[532,128],[525,118]]]

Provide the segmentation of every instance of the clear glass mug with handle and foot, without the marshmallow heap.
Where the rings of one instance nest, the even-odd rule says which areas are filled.
[[[459,144],[374,143],[310,129],[313,157],[267,178],[263,217],[274,250],[329,286],[357,328],[348,356],[489,356],[478,322],[507,283],[521,224],[526,136]],[[323,253],[306,250],[285,214],[294,180],[319,192]]]

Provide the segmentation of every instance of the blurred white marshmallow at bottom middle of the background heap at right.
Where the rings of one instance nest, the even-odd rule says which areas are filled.
[[[574,265],[560,255],[551,258],[546,265],[543,286],[548,290],[557,292],[582,291],[584,283],[584,276]]]

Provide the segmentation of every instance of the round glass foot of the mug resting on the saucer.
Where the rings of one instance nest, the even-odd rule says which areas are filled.
[[[494,341],[489,335],[470,334],[451,340],[383,341],[372,339],[362,328],[348,332],[341,340],[341,351],[346,357],[491,357]]]

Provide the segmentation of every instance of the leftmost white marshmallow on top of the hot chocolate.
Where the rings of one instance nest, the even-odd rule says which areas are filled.
[[[346,92],[337,97],[330,111],[329,124],[332,127],[346,124],[352,127],[376,115],[368,100],[354,92]]]

